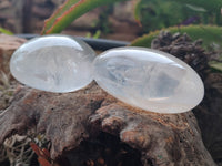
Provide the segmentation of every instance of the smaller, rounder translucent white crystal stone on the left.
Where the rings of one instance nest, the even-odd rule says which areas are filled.
[[[30,40],[12,55],[10,71],[21,83],[49,92],[71,92],[92,81],[94,51],[67,35]]]

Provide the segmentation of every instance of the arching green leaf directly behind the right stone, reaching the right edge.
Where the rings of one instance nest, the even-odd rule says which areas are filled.
[[[188,27],[171,27],[168,29],[162,29],[164,31],[170,31],[171,33],[180,32],[188,33],[192,40],[202,39],[203,46],[208,48],[210,44],[222,45],[222,27],[216,25],[188,25]],[[162,31],[160,30],[160,31]],[[150,48],[152,40],[159,35],[160,31],[154,31],[145,34],[141,38],[135,39],[131,45],[132,46],[145,46]]]

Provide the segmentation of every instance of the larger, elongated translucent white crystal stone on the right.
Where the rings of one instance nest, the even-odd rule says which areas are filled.
[[[97,83],[122,102],[158,113],[182,113],[196,106],[204,87],[181,60],[154,50],[120,48],[94,60]]]

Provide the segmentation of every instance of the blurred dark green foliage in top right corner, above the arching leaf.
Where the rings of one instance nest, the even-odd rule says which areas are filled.
[[[204,4],[201,2],[202,0],[140,0],[135,6],[134,15],[141,22],[144,33],[179,24],[221,25],[222,1],[204,0]]]

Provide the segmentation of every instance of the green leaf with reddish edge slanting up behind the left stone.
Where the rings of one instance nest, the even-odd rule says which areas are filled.
[[[67,0],[58,10],[44,21],[42,34],[59,33],[72,21],[90,10],[125,0]]]

